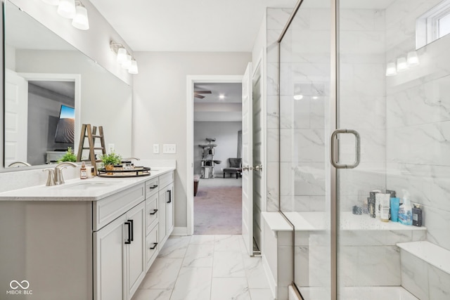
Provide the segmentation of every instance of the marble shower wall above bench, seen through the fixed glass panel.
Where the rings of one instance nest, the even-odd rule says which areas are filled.
[[[302,5],[281,42],[281,210],[325,211],[330,10]],[[278,35],[268,30],[267,37]]]

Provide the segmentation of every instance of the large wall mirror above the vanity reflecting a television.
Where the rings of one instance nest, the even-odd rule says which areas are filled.
[[[131,156],[131,86],[5,1],[4,170],[55,163],[82,124]],[[87,152],[86,152],[87,156]]]

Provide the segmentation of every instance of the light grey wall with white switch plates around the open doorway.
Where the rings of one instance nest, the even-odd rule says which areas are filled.
[[[137,52],[133,156],[176,159],[175,226],[186,227],[186,76],[240,75],[251,53]],[[176,154],[153,154],[153,144],[175,143]]]

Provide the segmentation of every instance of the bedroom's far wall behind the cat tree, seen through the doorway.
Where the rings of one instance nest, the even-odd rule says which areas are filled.
[[[228,166],[229,157],[237,157],[238,131],[242,130],[242,122],[194,122],[194,174],[201,174],[201,159],[203,148],[209,142],[205,138],[216,138],[213,144],[214,160],[221,160],[220,164],[214,164],[214,174],[221,176],[224,172],[221,168]],[[229,174],[227,174],[229,176]]]

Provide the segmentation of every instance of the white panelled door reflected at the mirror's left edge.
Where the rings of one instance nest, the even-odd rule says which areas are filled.
[[[28,85],[16,72],[5,70],[5,166],[27,161]]]

